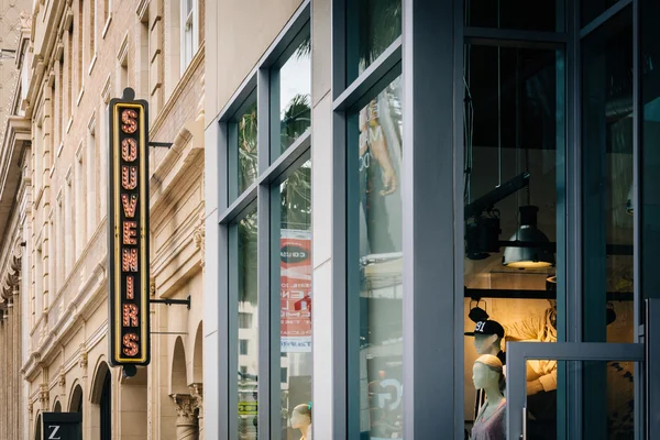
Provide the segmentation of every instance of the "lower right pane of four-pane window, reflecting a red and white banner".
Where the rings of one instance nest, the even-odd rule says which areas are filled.
[[[280,224],[279,350],[282,439],[311,439],[311,167],[306,163],[275,189]]]

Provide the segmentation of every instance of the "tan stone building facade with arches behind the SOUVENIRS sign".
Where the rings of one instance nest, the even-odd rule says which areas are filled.
[[[20,297],[0,305],[20,315],[0,323],[20,353],[7,387],[23,382],[8,438],[41,439],[46,411],[81,413],[90,440],[204,438],[205,2],[29,3],[1,155],[23,152],[0,246],[0,302]],[[150,294],[190,297],[150,306],[152,361],[132,377],[108,363],[107,111],[127,87],[150,102],[150,139],[173,143],[150,148]]]

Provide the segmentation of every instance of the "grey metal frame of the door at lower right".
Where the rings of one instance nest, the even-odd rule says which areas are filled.
[[[557,361],[629,361],[645,362],[644,343],[608,343],[608,342],[507,342],[506,365],[506,426],[507,439],[525,439],[524,413],[526,410],[526,367],[530,360]],[[639,377],[641,380],[641,377]],[[636,381],[637,383],[637,381]],[[635,386],[635,406],[644,405]],[[636,411],[636,415],[640,414]],[[635,432],[641,432],[644,420],[635,417]],[[636,435],[638,438],[638,435]]]

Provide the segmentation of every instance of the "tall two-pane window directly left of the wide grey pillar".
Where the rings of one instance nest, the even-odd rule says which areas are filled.
[[[339,190],[346,204],[341,274],[346,287],[346,438],[403,439],[408,342],[403,304],[413,293],[403,288],[402,1],[346,0],[345,8],[337,11],[345,14],[346,34],[345,46],[336,47],[345,72],[334,94],[350,90],[365,75],[367,84],[376,85],[341,95],[346,110],[338,116],[345,120],[345,136],[334,145],[345,157],[345,179],[334,185],[345,188]],[[383,64],[394,68],[369,69]],[[341,287],[334,290],[341,295]]]

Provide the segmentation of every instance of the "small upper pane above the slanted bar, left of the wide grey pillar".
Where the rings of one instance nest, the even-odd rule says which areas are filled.
[[[348,82],[402,34],[402,0],[348,0]]]

